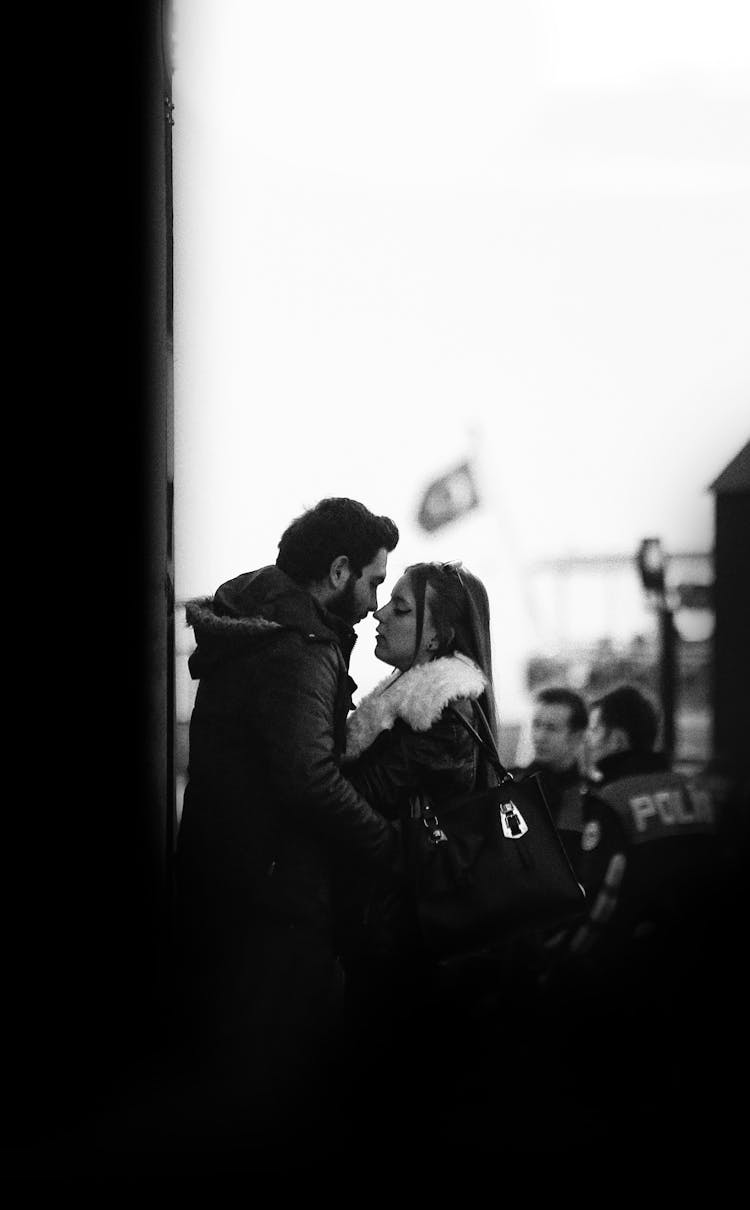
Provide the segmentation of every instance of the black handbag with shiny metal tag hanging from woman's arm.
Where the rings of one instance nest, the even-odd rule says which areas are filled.
[[[488,739],[450,708],[498,783],[442,802],[414,794],[404,820],[406,869],[421,937],[437,958],[502,945],[526,929],[570,921],[585,894],[565,853],[538,773],[514,779]]]

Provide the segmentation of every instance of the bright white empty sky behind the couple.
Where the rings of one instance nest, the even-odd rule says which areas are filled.
[[[351,495],[393,578],[486,580],[509,668],[533,560],[710,549],[750,437],[746,0],[173,7],[178,598]],[[421,534],[467,453],[484,507]]]

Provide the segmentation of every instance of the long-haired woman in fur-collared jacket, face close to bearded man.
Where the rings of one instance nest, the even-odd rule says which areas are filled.
[[[484,584],[456,563],[406,567],[374,615],[375,655],[394,672],[347,719],[344,772],[385,816],[402,823],[411,800],[435,807],[494,784],[479,745],[456,718],[496,742],[490,609]],[[362,888],[360,888],[362,889]],[[351,895],[351,891],[350,891]],[[435,968],[421,944],[406,880],[351,898],[342,935],[350,995],[359,1007],[431,995]]]

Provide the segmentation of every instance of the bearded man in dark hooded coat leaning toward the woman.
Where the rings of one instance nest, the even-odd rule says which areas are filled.
[[[393,825],[339,768],[352,627],[377,607],[398,536],[354,500],[322,500],[275,565],[186,611],[200,682],[175,880],[188,1039],[223,1095],[252,1090],[267,1120],[308,1090],[336,1020],[336,865],[368,877],[398,863]]]

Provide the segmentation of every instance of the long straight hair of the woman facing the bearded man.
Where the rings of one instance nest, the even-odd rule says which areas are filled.
[[[412,563],[406,575],[416,603],[416,641],[420,649],[425,626],[427,587],[432,589],[429,609],[438,635],[439,656],[455,652],[468,656],[481,669],[488,684],[479,705],[497,743],[497,705],[492,682],[492,645],[490,640],[490,599],[481,581],[461,563]]]

